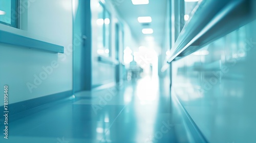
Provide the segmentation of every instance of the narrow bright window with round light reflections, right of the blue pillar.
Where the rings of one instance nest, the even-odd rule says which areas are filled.
[[[103,4],[99,2],[97,23],[97,53],[102,56],[110,57],[111,40],[111,16]]]

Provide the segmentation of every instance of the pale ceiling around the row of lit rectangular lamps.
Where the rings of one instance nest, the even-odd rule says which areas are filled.
[[[117,1],[117,0],[112,0]],[[149,0],[147,5],[133,5],[131,0],[122,0],[115,8],[120,16],[130,26],[132,34],[141,46],[147,46],[148,42],[145,41],[146,36],[154,36],[155,42],[158,46],[162,45],[165,31],[166,9],[167,0]],[[139,16],[151,16],[152,22],[149,26],[142,26],[138,22]],[[143,28],[152,28],[153,34],[143,34]],[[151,43],[152,44],[152,43]]]

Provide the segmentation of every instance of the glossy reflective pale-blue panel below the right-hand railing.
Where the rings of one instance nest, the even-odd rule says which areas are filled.
[[[256,142],[255,25],[173,62],[173,87],[209,142]]]

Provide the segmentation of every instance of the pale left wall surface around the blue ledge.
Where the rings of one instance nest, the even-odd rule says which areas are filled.
[[[2,24],[0,30],[62,45],[65,53],[0,43],[0,87],[9,86],[10,104],[72,90],[72,0],[27,1],[27,8],[20,12],[24,18],[21,23],[23,30]],[[39,77],[44,72],[42,67],[50,66],[53,61],[58,66],[39,85],[35,85],[34,75]],[[37,88],[30,92],[27,83]]]

